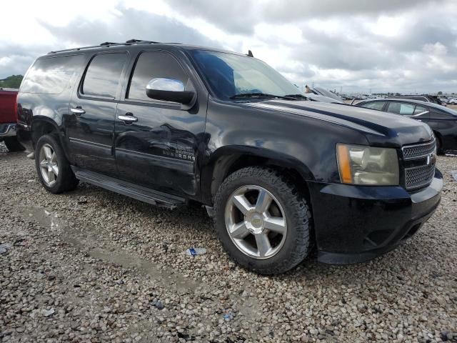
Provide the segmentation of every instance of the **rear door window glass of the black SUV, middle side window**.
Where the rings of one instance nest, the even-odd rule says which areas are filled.
[[[126,59],[126,54],[96,55],[84,76],[81,93],[114,99]]]

